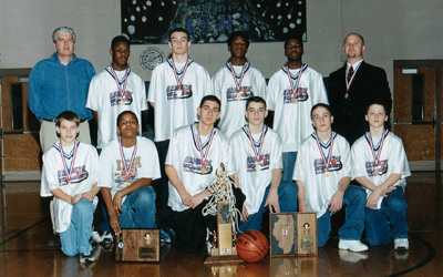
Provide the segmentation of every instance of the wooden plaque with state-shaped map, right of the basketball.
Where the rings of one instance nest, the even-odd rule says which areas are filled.
[[[270,255],[317,256],[317,214],[270,214]]]

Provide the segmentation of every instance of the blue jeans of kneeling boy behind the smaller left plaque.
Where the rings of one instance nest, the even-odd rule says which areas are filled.
[[[128,194],[122,204],[120,214],[122,228],[154,228],[155,192],[152,186],[144,186]]]

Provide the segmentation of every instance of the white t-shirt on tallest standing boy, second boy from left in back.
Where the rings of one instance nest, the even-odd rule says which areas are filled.
[[[188,66],[176,69],[177,74],[174,74],[174,66],[176,64],[169,59],[156,66],[151,78],[147,101],[156,107],[156,142],[169,140],[175,129],[197,121],[197,107],[203,96],[213,94],[209,74],[202,65],[188,59]],[[177,81],[182,82],[182,89]]]

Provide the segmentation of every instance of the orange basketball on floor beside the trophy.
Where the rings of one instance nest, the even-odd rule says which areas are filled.
[[[236,248],[241,259],[248,263],[257,263],[268,254],[269,242],[261,232],[249,229],[238,236]]]

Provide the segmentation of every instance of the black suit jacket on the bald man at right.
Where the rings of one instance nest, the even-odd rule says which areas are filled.
[[[391,113],[392,99],[387,73],[383,69],[364,61],[360,64],[348,91],[346,64],[332,72],[328,79],[328,98],[333,115],[333,130],[352,143],[368,130],[364,120],[365,107],[373,101],[381,101],[387,114]]]

